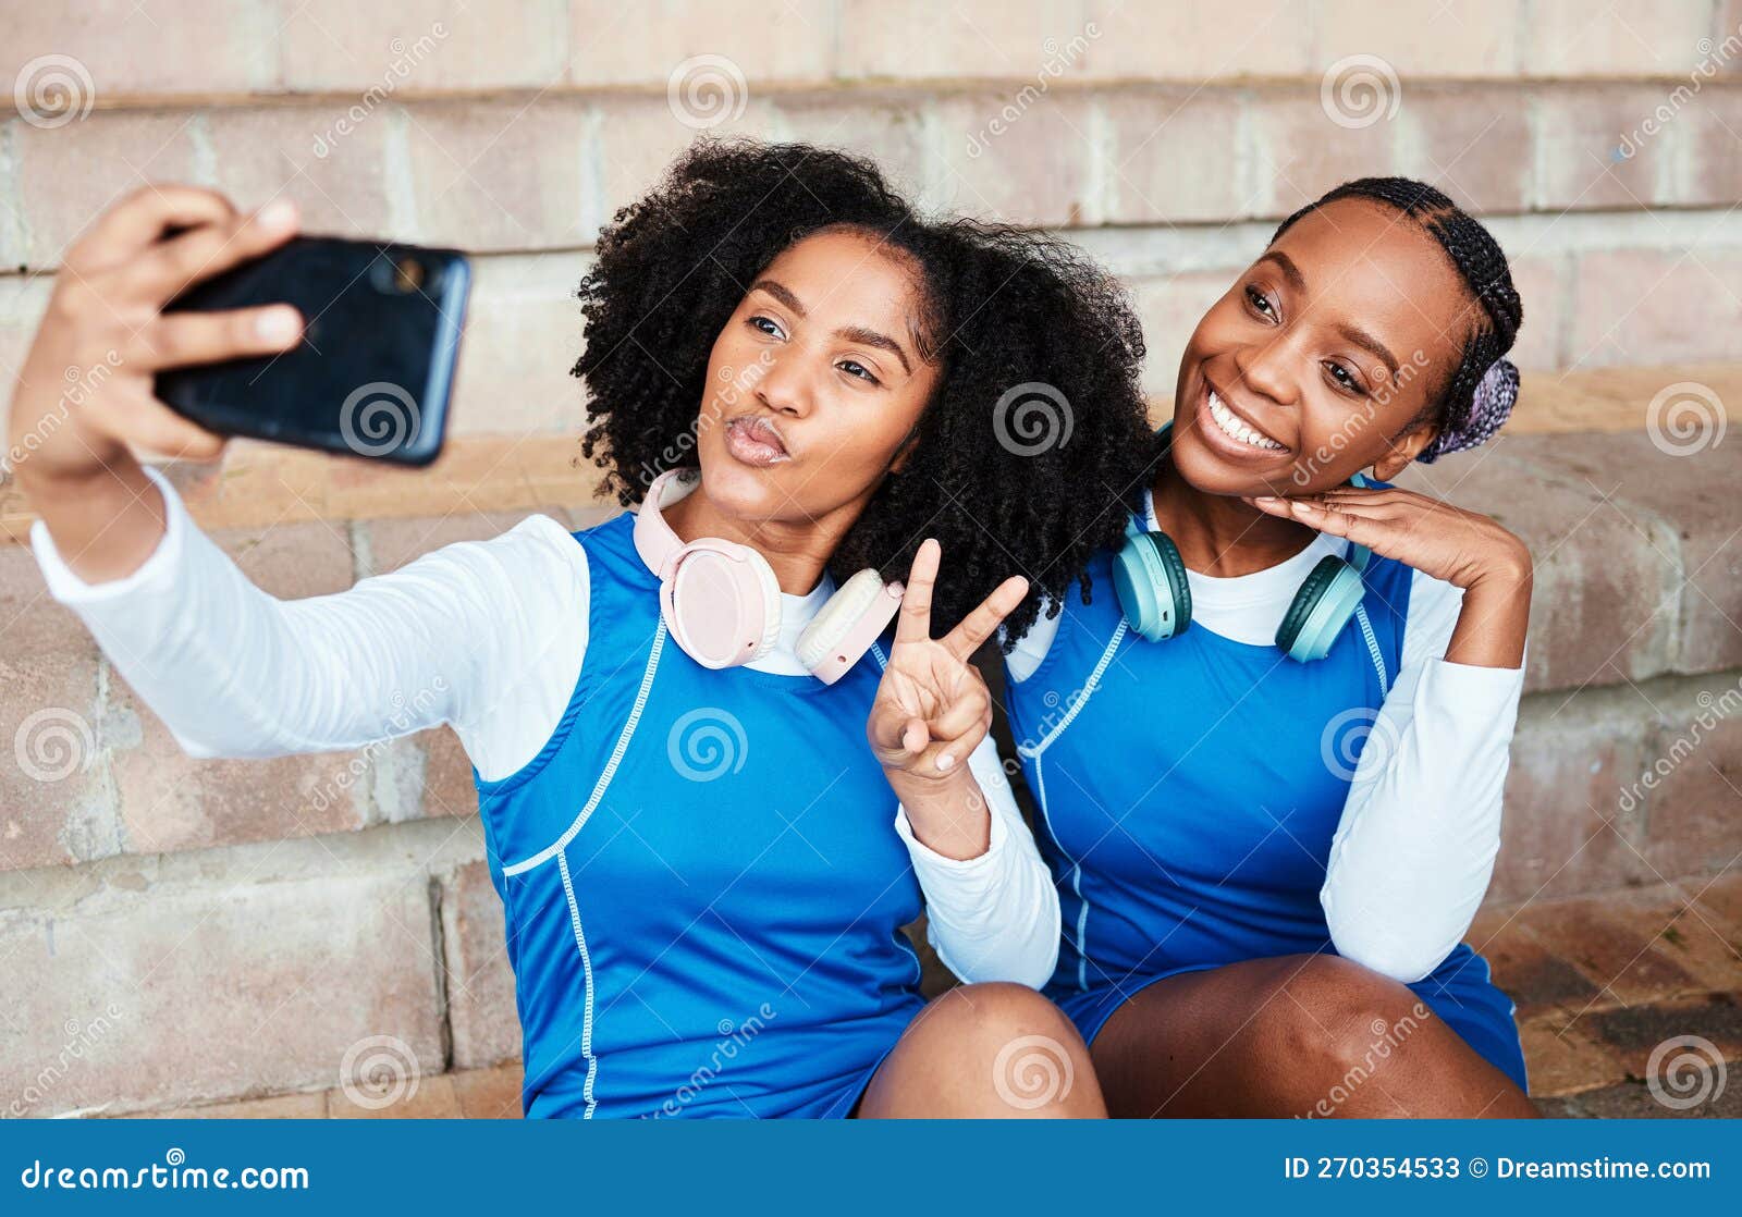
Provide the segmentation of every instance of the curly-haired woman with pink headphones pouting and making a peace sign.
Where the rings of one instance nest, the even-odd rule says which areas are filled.
[[[52,594],[181,747],[453,726],[530,1116],[1104,1114],[1035,991],[1057,895],[969,656],[1132,505],[1106,493],[1148,437],[1117,286],[1068,245],[925,221],[866,160],[699,143],[580,287],[582,446],[636,510],[280,601],[127,440],[218,454],[152,371],[284,350],[301,319],[160,308],[294,226],[204,190],[125,200],[70,251],[12,404],[17,439],[54,407],[45,367],[139,326],[19,474]],[[969,982],[930,1003],[901,930],[922,895]]]

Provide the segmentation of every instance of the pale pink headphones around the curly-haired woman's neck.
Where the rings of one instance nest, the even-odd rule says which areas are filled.
[[[700,482],[700,470],[660,474],[636,510],[636,552],[658,575],[665,629],[702,667],[725,669],[766,655],[780,637],[780,585],[768,559],[718,536],[681,541],[660,515]],[[847,580],[798,635],[798,662],[834,684],[871,649],[901,608],[901,583],[866,568]]]

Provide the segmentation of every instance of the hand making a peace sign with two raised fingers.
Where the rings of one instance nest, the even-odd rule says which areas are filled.
[[[956,629],[932,637],[932,585],[942,547],[927,538],[913,555],[866,738],[878,763],[915,778],[944,778],[986,738],[991,695],[969,663],[981,642],[1028,595],[1028,580],[1007,578]]]

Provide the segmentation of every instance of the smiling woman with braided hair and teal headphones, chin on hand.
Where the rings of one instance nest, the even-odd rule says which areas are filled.
[[[1460,944],[1531,559],[1385,481],[1495,434],[1519,322],[1500,247],[1432,186],[1289,216],[1192,334],[1122,548],[1009,655],[1063,902],[1047,994],[1115,1116],[1535,1114],[1514,1006]]]

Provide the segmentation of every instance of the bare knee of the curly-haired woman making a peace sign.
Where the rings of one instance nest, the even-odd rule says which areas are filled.
[[[855,1116],[981,1120],[1104,1116],[1077,1027],[1016,984],[974,984],[927,1003],[871,1076]]]

